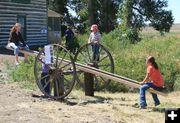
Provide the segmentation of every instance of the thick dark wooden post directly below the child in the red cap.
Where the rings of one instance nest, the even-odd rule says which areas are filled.
[[[94,75],[84,72],[85,95],[94,96]]]

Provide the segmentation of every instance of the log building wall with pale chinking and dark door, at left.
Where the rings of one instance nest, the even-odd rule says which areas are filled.
[[[28,45],[48,44],[46,0],[0,0],[0,46],[5,46],[12,26],[19,22]]]

